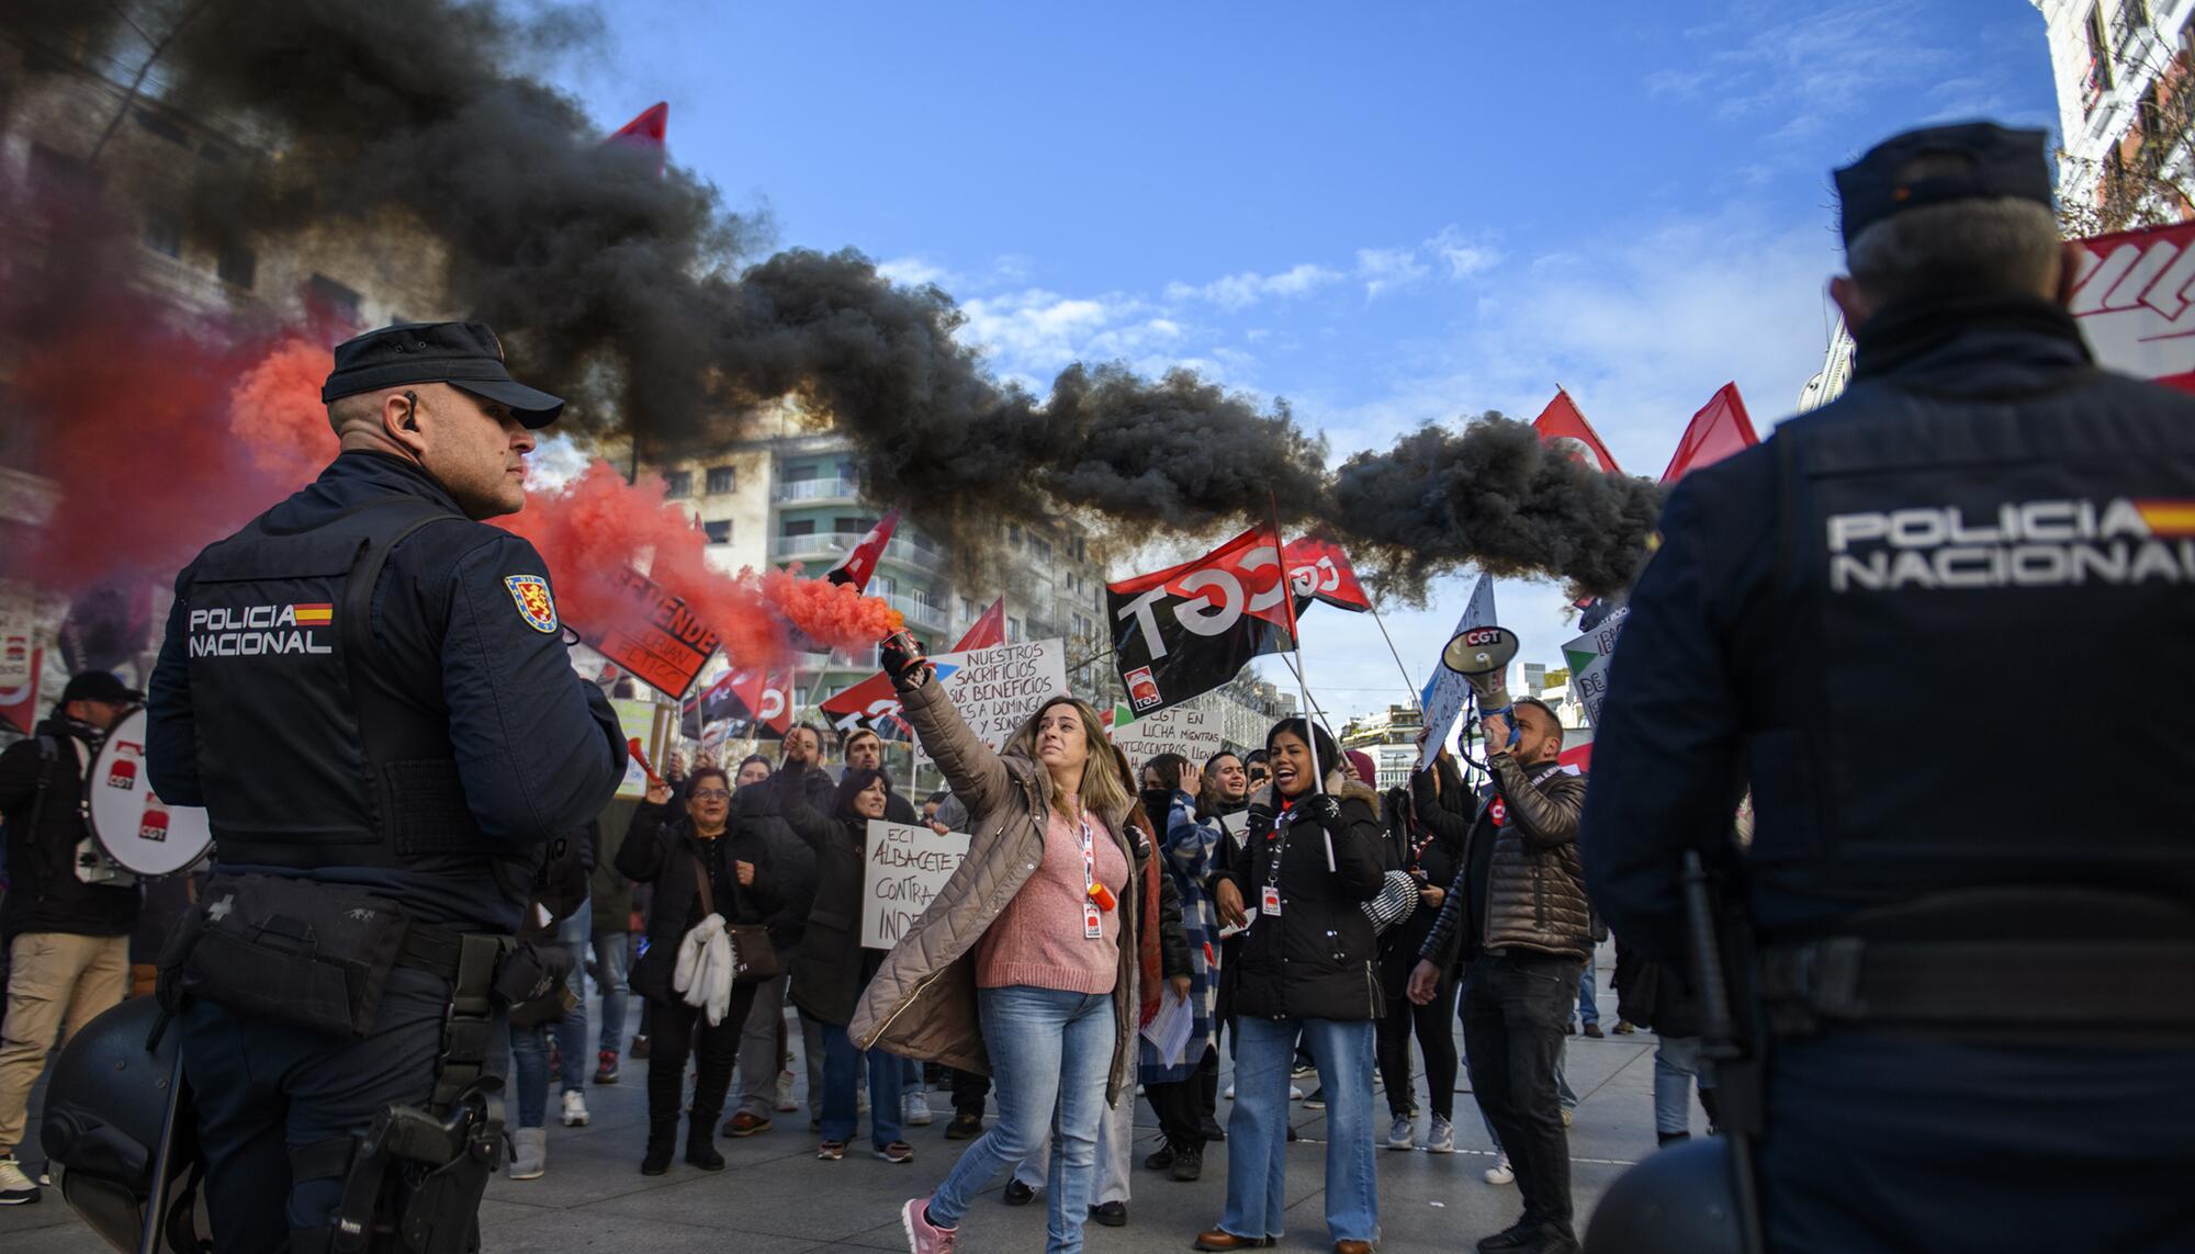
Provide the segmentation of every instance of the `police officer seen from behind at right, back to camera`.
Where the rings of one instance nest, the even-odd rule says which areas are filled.
[[[2195,1228],[2195,397],[2094,366],[2048,149],[1837,171],[1853,386],[1670,493],[1594,739],[1624,945],[1686,954],[1686,851],[1749,916],[1776,1252]]]

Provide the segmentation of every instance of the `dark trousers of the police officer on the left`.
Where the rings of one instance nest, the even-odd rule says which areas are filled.
[[[426,1105],[441,1057],[450,982],[395,967],[362,1039],[248,1019],[213,1002],[182,1015],[182,1068],[206,1153],[206,1212],[217,1254],[277,1254],[292,1230],[320,1232],[342,1179],[292,1179],[290,1151],[362,1136],[389,1103]],[[503,1039],[496,1008],[489,1039]],[[507,1054],[489,1050],[503,1074]]]

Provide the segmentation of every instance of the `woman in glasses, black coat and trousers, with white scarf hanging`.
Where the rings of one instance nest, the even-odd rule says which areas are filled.
[[[687,1054],[696,1054],[698,1076],[685,1158],[702,1171],[724,1168],[724,1155],[716,1151],[716,1116],[724,1109],[740,1028],[755,1002],[753,984],[735,984],[724,1017],[711,1024],[700,1006],[689,1006],[672,987],[678,945],[711,914],[711,905],[731,923],[751,919],[764,899],[755,890],[755,864],[733,857],[731,840],[724,837],[731,776],[720,767],[700,767],[687,776],[685,796],[685,813],[674,816],[669,785],[650,785],[648,798],[632,811],[626,844],[617,851],[617,870],[626,879],[654,886],[645,954],[632,967],[632,991],[654,1006],[648,1046],[648,1158],[641,1160],[641,1175],[669,1171]]]

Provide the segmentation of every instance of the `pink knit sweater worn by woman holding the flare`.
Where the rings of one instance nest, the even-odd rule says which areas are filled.
[[[1098,884],[1115,901],[1128,892],[1128,859],[1091,816]],[[1073,820],[1051,811],[1045,862],[977,945],[975,982],[981,989],[1032,984],[1069,993],[1111,993],[1119,980],[1119,905],[1100,914],[1104,941],[1082,936],[1082,835]]]

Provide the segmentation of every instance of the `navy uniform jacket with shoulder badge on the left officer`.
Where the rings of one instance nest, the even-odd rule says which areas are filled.
[[[349,535],[397,515],[415,526],[351,623]],[[340,454],[176,579],[151,783],[209,807],[217,870],[364,886],[421,923],[516,932],[542,846],[595,820],[626,763],[560,627],[531,544],[468,520],[417,465]],[[362,647],[378,666],[345,671]],[[419,761],[364,761],[362,682],[428,741]],[[408,851],[389,848],[391,827]]]

